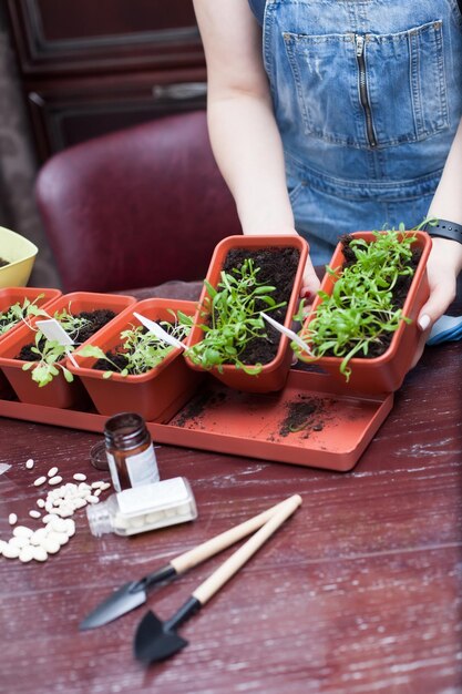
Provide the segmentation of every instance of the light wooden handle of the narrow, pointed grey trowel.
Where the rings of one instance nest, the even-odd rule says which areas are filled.
[[[227,547],[238,542],[238,540],[242,540],[251,532],[255,532],[258,528],[261,528],[261,525],[264,525],[271,518],[271,516],[277,513],[279,509],[287,503],[287,501],[288,499],[273,506],[270,509],[263,511],[263,513],[259,513],[258,516],[254,516],[254,518],[249,518],[244,523],[235,525],[235,528],[230,528],[229,530],[222,532],[219,535],[198,544],[194,549],[184,552],[184,554],[175,557],[175,559],[172,559],[170,562],[171,565],[175,569],[177,574],[184,573],[188,569],[196,567],[209,557],[214,557],[214,554],[217,554]]]

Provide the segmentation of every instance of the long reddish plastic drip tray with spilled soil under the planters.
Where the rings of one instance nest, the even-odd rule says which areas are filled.
[[[147,422],[154,441],[245,458],[350,470],[393,405],[393,394],[361,396],[327,374],[291,369],[284,390],[248,394],[207,378],[167,422]],[[106,417],[0,400],[0,415],[103,431]]]

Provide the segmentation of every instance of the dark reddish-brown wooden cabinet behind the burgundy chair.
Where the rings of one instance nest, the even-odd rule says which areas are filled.
[[[205,108],[191,0],[8,0],[41,161],[89,137]]]

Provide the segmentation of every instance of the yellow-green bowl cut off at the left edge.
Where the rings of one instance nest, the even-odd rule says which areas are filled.
[[[0,226],[0,287],[25,287],[39,248],[16,232]]]

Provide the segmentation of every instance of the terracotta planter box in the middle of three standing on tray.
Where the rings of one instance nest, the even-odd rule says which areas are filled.
[[[82,310],[96,310],[99,308],[109,308],[116,314],[127,309],[135,304],[133,296],[116,296],[111,294],[94,294],[92,292],[74,292],[65,294],[54,299],[47,306],[47,312],[53,316],[55,312],[68,308],[74,315]],[[32,325],[37,319],[32,320]],[[97,335],[97,333],[95,333]],[[23,325],[16,329],[12,335],[8,335],[0,343],[0,368],[16,395],[21,402],[31,405],[44,405],[48,407],[69,408],[82,405],[88,398],[82,384],[74,379],[69,384],[63,374],[60,372],[47,386],[39,387],[32,380],[31,371],[23,371],[22,367],[25,361],[16,359],[14,357],[21,351],[21,348],[32,343],[35,331]],[[64,360],[68,366],[69,359]],[[32,367],[33,368],[33,367]]]

